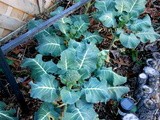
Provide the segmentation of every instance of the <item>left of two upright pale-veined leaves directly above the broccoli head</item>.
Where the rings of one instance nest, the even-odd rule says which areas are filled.
[[[76,51],[72,48],[63,51],[57,66],[64,71],[77,69],[78,63],[76,62]]]

